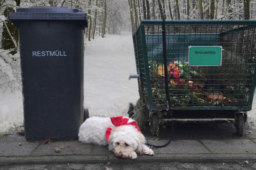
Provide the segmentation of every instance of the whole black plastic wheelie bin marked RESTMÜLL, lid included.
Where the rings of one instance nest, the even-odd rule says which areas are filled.
[[[67,7],[17,8],[27,141],[78,139],[84,121],[87,14]]]

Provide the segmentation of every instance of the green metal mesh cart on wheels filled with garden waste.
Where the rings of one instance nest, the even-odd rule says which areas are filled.
[[[165,33],[162,24],[142,20],[134,31],[137,74],[129,77],[138,78],[152,135],[167,108],[165,34],[173,118],[235,119],[241,136],[256,86],[256,21],[166,20]]]

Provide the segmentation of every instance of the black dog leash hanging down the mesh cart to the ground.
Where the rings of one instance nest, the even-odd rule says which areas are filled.
[[[147,143],[148,146],[151,147],[165,147],[170,142],[172,141],[173,137],[173,131],[174,131],[174,124],[173,124],[173,119],[172,119],[172,108],[169,108],[171,106],[171,101],[170,101],[170,94],[169,94],[169,83],[168,83],[168,69],[167,69],[167,56],[166,56],[166,24],[165,20],[163,20],[163,25],[162,25],[162,34],[163,34],[163,65],[164,65],[164,79],[165,79],[165,90],[166,90],[166,103],[167,103],[167,108],[166,111],[169,112],[170,117],[171,117],[171,123],[172,123],[172,131],[171,131],[171,137],[169,141],[166,144],[163,145],[154,145],[154,144],[149,144]]]

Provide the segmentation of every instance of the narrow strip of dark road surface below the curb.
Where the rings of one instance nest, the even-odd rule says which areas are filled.
[[[256,162],[244,163],[137,163],[137,164],[37,164],[0,167],[0,170],[256,170]]]

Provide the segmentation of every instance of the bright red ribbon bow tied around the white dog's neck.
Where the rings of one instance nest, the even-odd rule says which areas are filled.
[[[115,125],[116,127],[117,126],[122,126],[122,125],[134,125],[137,130],[140,132],[140,128],[137,126],[137,123],[135,121],[132,121],[132,122],[128,122],[129,119],[127,118],[122,118],[123,116],[116,116],[116,117],[111,117],[111,122],[113,123],[113,125]],[[111,128],[108,127],[108,129],[106,130],[106,133],[105,133],[105,136],[106,136],[106,139],[107,141],[109,142],[109,136],[110,136],[110,133],[111,133]]]

